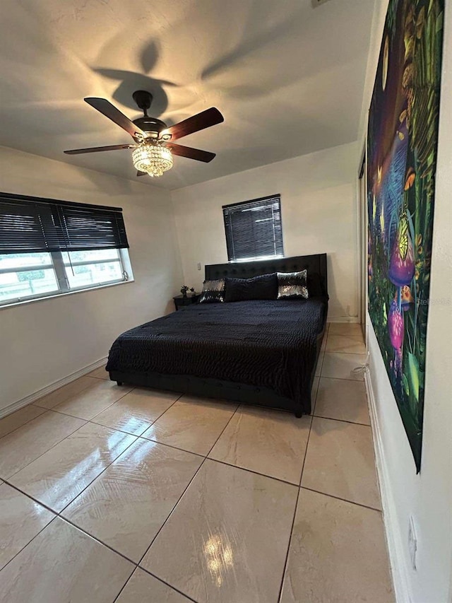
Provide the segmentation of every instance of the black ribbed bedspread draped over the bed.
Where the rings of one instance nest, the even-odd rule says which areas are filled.
[[[186,306],[121,334],[108,371],[215,377],[268,387],[310,412],[326,300]]]

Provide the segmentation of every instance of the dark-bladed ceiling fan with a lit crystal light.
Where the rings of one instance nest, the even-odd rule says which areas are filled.
[[[105,117],[108,117],[128,132],[133,138],[134,144],[76,148],[72,151],[64,151],[64,153],[66,155],[78,155],[81,153],[97,153],[98,151],[119,151],[123,148],[133,149],[132,160],[134,167],[138,170],[137,176],[148,174],[151,177],[161,176],[163,172],[170,170],[173,165],[173,155],[188,157],[205,163],[213,160],[215,153],[174,144],[173,141],[224,122],[225,119],[218,109],[210,107],[206,111],[184,119],[183,122],[167,127],[165,122],[148,115],[148,109],[153,101],[153,95],[150,92],[136,90],[132,97],[144,113],[143,117],[138,117],[133,121],[105,98],[85,98],[84,100],[88,105],[100,111]]]

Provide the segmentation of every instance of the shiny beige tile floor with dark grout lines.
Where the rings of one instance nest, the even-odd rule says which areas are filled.
[[[359,327],[313,416],[118,387],[97,369],[0,421],[0,601],[393,602]]]

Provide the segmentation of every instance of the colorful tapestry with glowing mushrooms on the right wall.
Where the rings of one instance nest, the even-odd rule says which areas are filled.
[[[369,315],[420,471],[444,0],[390,0],[367,133]]]

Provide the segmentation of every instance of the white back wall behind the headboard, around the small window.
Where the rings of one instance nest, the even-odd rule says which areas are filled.
[[[222,205],[281,194],[286,256],[328,253],[328,320],[357,320],[355,143],[172,192],[184,282],[227,262]],[[201,263],[201,271],[196,264]]]

